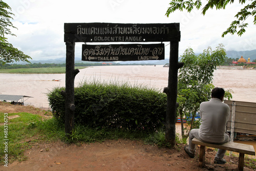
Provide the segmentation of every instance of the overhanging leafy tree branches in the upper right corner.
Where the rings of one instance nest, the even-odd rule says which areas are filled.
[[[207,0],[207,4],[203,7],[202,9],[202,14],[205,15],[206,11],[209,8],[216,8],[217,10],[219,9],[225,9],[228,4],[234,3],[234,0]],[[237,33],[239,36],[241,36],[245,32],[245,28],[248,26],[248,23],[244,23],[245,20],[249,17],[252,16],[254,18],[253,24],[256,25],[256,0],[239,0],[239,4],[241,5],[246,5],[244,8],[242,8],[234,17],[237,18],[237,20],[234,20],[231,24],[230,27],[227,28],[226,31],[222,33],[222,37],[224,37],[226,34],[234,34]],[[194,9],[200,9],[202,6],[202,1],[201,0],[188,0],[188,1],[183,1],[183,0],[173,0],[172,2],[169,3],[170,7],[167,9],[166,14],[167,17],[169,16],[170,13],[179,10],[183,11],[183,9],[187,10],[187,12],[191,12],[191,10]]]

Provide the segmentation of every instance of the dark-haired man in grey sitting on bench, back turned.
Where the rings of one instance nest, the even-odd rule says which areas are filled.
[[[184,147],[190,158],[195,157],[196,144],[191,142],[195,137],[206,143],[223,144],[230,141],[227,133],[230,109],[227,104],[223,103],[224,94],[224,89],[214,88],[211,91],[211,99],[200,104],[200,128],[189,132],[189,145]],[[214,163],[225,164],[226,160],[223,159],[225,153],[226,150],[218,149]]]

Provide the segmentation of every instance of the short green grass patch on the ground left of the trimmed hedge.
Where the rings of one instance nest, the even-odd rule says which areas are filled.
[[[23,155],[24,151],[31,148],[33,143],[46,140],[54,141],[65,136],[64,127],[59,125],[56,119],[42,120],[41,116],[30,113],[9,113],[8,117],[12,115],[20,117],[9,119],[8,125],[0,126],[2,133],[0,139],[8,139],[7,153],[5,144],[0,144],[0,164],[4,164],[5,154],[8,154],[8,163],[13,160],[24,161],[26,160]],[[0,122],[3,123],[4,113],[0,113],[0,118]],[[7,137],[4,134],[6,128],[8,129]]]

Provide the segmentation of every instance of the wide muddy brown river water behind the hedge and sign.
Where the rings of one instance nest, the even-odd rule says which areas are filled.
[[[80,70],[75,77],[75,86],[86,81],[119,81],[142,84],[163,90],[168,84],[168,69],[163,66],[99,66]],[[213,84],[225,90],[232,90],[232,100],[256,102],[256,70],[217,69]],[[53,81],[59,80],[60,81]],[[46,93],[54,87],[65,87],[65,74],[0,74],[0,93],[26,95],[25,105],[48,108]],[[177,132],[179,132],[179,125]],[[256,149],[255,141],[251,143]]]

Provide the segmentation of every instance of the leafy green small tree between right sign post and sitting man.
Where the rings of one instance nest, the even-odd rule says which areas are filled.
[[[214,88],[212,78],[216,67],[225,59],[226,51],[222,44],[212,51],[209,47],[202,54],[195,55],[193,49],[188,48],[181,56],[184,66],[179,71],[178,76],[178,116],[191,118],[190,130],[194,128],[194,121],[199,112],[200,103],[208,101],[211,97],[211,90]],[[230,91],[225,97],[230,98]],[[183,122],[182,136],[184,136]]]

